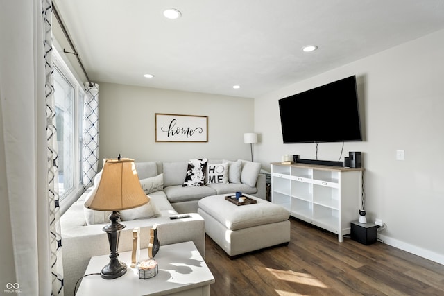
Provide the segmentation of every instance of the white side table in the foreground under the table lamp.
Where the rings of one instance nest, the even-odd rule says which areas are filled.
[[[148,250],[140,251],[140,260],[148,259]],[[161,245],[155,256],[159,273],[151,279],[139,279],[135,268],[130,268],[131,252],[119,254],[119,260],[128,265],[126,274],[117,279],[102,279],[100,275],[84,277],[76,295],[206,295],[214,277],[192,241]],[[94,256],[85,275],[101,271],[110,261],[108,255]]]

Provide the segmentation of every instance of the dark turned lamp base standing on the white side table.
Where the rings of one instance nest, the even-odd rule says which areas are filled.
[[[110,241],[110,263],[102,268],[101,277],[103,279],[117,279],[126,273],[126,264],[119,261],[119,252],[117,252],[120,231],[126,226],[118,222],[120,214],[117,211],[113,211],[109,218],[111,224],[103,227],[103,231],[108,234],[108,241]]]

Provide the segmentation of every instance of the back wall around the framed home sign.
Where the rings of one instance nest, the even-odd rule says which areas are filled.
[[[253,132],[253,108],[253,98],[99,83],[99,157],[250,159],[244,132]],[[208,116],[208,142],[155,142],[155,113]]]

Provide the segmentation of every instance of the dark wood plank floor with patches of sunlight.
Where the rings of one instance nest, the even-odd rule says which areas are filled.
[[[444,265],[291,218],[291,242],[231,260],[207,236],[211,295],[444,295]]]

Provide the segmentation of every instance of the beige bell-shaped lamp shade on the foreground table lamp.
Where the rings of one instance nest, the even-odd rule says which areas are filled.
[[[85,207],[99,211],[133,209],[149,202],[139,182],[134,159],[105,159],[99,185]]]

